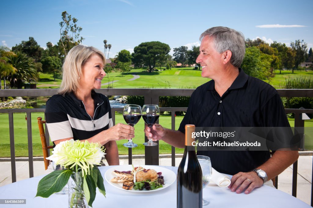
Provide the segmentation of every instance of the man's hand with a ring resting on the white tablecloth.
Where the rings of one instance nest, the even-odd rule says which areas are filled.
[[[233,192],[236,191],[237,194],[240,194],[244,189],[247,188],[244,193],[249,194],[254,188],[261,187],[263,182],[263,179],[260,178],[254,171],[246,173],[239,172],[233,175],[228,188]]]

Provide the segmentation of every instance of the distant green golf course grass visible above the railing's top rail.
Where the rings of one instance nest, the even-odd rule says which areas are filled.
[[[131,73],[136,73],[140,78],[135,81],[128,81],[133,78]],[[52,74],[39,73],[40,79],[38,81],[38,88],[58,88],[61,83],[61,79],[54,81]],[[292,73],[291,70],[284,70],[279,73],[279,70],[275,70],[275,77],[270,81],[276,89],[281,89],[284,86],[285,80],[288,77],[313,77],[313,71],[309,70],[298,71],[295,70]],[[201,77],[201,71],[193,70],[191,67],[185,68],[172,68],[171,70],[158,71],[148,73],[145,69],[132,69],[131,72],[125,73],[123,76],[120,72],[111,72],[105,76],[102,80],[102,84],[111,81],[118,81],[113,83],[114,88],[184,88],[184,87],[198,87],[205,82],[208,82],[208,78]],[[264,80],[268,82],[268,80]],[[103,85],[102,88],[107,88],[108,85]]]

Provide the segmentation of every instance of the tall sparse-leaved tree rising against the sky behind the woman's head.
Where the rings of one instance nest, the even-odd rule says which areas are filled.
[[[75,17],[72,18],[66,11],[62,12],[62,22],[60,25],[60,43],[64,50],[64,55],[67,56],[69,50],[80,44],[84,38],[80,37],[80,32],[82,31],[82,27],[79,27],[77,23],[78,19]]]

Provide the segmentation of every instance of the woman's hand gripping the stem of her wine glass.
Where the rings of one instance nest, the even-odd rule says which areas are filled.
[[[135,131],[133,126],[118,123],[112,126],[108,130],[102,131],[107,140],[121,140],[121,139],[131,139],[135,137]]]

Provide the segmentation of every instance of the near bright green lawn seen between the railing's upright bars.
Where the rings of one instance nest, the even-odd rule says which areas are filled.
[[[42,156],[41,141],[39,137],[39,130],[37,124],[37,117],[44,117],[43,113],[32,113],[32,135],[33,135],[33,156]],[[183,116],[176,116],[175,118],[175,129],[177,130]],[[29,119],[29,118],[28,118]],[[116,123],[125,123],[123,116],[116,113]],[[160,116],[160,124],[162,126],[171,128],[171,116]],[[294,126],[294,119],[289,119],[290,125]],[[8,114],[0,114],[0,157],[10,157],[10,137],[9,137],[9,125],[8,125]],[[15,155],[28,156],[28,139],[27,139],[27,127],[24,113],[13,114],[13,125],[14,125],[14,138],[15,138]],[[313,121],[305,121],[305,149],[313,150]],[[132,149],[133,154],[144,154],[145,147],[144,143],[144,121],[141,119],[135,126],[135,138],[133,141],[138,144],[138,147]],[[117,141],[119,154],[127,155],[128,148],[123,146],[127,140]],[[159,142],[160,154],[171,153],[171,146],[166,144],[164,141]],[[176,153],[183,153],[183,149],[176,148]]]

